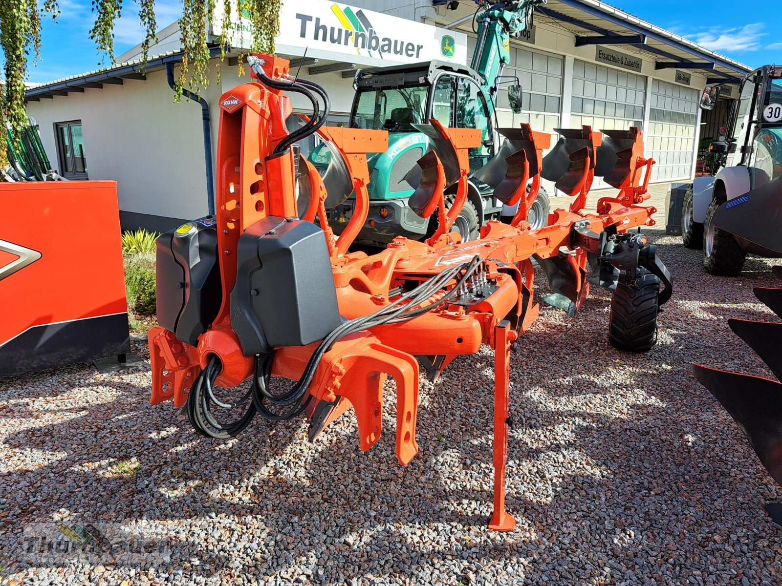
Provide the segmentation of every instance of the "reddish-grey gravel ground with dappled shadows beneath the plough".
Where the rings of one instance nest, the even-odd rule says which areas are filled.
[[[77,365],[0,381],[0,575],[9,584],[782,583],[782,527],[762,510],[780,489],[689,367],[766,373],[726,319],[769,316],[752,295],[774,283],[769,263],[709,277],[700,252],[651,235],[676,284],[656,348],[610,348],[598,290],[576,319],[543,308],[511,357],[515,531],[485,528],[488,348],[457,360],[434,388],[421,381],[421,451],[407,467],[394,455],[393,400],[368,453],[352,414],[315,445],[303,420],[260,418],[240,438],[210,441],[170,403],[149,406],[147,368],[108,376]],[[135,351],[146,354],[138,341]],[[66,548],[59,523],[87,527],[100,552]]]

